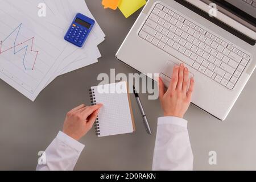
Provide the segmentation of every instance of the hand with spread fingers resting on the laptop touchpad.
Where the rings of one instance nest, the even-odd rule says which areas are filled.
[[[190,79],[190,86],[187,92],[188,83],[189,72],[183,63],[180,64],[180,67],[174,67],[171,82],[166,92],[164,91],[163,81],[159,77],[159,99],[164,116],[183,118],[191,103],[191,96],[195,85],[194,78]]]

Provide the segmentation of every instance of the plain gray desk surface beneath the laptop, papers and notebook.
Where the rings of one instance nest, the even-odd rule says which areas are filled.
[[[35,102],[0,81],[0,169],[34,170],[38,151],[45,150],[61,130],[65,113],[81,103],[89,105],[88,89],[97,85],[98,73],[134,73],[115,60],[123,39],[138,13],[129,19],[117,11],[104,10],[101,1],[86,1],[106,34],[99,48],[99,63],[58,77],[40,93]],[[195,106],[189,107],[185,119],[194,154],[194,169],[256,169],[256,73],[243,90],[225,122],[219,122]],[[97,138],[94,131],[82,138],[85,149],[76,170],[144,170],[151,169],[156,121],[162,115],[159,101],[141,96],[154,134],[148,136],[134,97],[132,105],[137,131],[134,134]],[[208,152],[217,152],[217,165],[208,164]]]

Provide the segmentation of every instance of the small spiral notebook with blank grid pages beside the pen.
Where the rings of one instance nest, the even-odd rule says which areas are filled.
[[[133,133],[133,111],[126,82],[93,86],[90,89],[92,105],[103,104],[96,119],[98,137]]]

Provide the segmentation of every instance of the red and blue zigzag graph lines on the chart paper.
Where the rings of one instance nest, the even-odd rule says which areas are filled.
[[[35,68],[35,63],[36,63],[36,59],[37,59],[37,57],[38,57],[39,51],[33,50],[33,46],[34,46],[34,37],[32,37],[32,38],[30,38],[30,39],[27,39],[27,40],[25,40],[24,42],[20,42],[20,43],[16,44],[16,40],[17,40],[17,38],[18,38],[18,36],[19,36],[19,32],[20,32],[20,28],[21,28],[21,27],[22,27],[22,23],[20,23],[19,26],[16,27],[16,28],[14,29],[14,31],[12,31],[4,40],[1,40],[1,41],[0,41],[0,55],[1,55],[1,53],[4,53],[4,52],[6,52],[6,51],[9,51],[10,49],[13,49],[14,55],[15,55],[16,53],[18,53],[18,52],[24,50],[25,52],[24,52],[23,61],[22,61],[23,66],[24,66],[24,69],[26,69],[26,70],[34,70],[34,68]],[[2,51],[2,44],[6,41],[6,39],[8,39],[8,38],[9,38],[12,34],[14,34],[14,32],[17,31],[17,30],[18,30],[18,32],[17,32],[17,34],[16,34],[16,37],[15,37],[15,41],[14,41],[13,46],[12,46],[12,47],[9,47],[9,48],[7,48],[7,49],[5,49],[5,50]],[[26,43],[26,42],[28,42],[28,41],[30,41],[30,40],[32,40],[30,52],[35,52],[36,55],[35,55],[35,60],[34,60],[34,63],[32,64],[32,67],[31,67],[31,68],[28,68],[28,67],[26,67],[26,64],[25,64],[25,62],[26,62],[26,55],[27,55],[27,51],[28,51],[28,45],[24,46],[23,48],[18,49],[17,51],[16,51],[16,47],[17,47],[17,46],[20,46],[20,45],[22,45],[22,44],[24,44],[24,43]]]

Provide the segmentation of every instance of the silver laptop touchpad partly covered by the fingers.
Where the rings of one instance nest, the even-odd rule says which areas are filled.
[[[164,65],[163,71],[160,73],[160,77],[162,78],[164,82],[164,86],[168,88],[171,77],[172,77],[172,70],[174,69],[175,65],[178,65],[174,63],[173,61],[169,60],[166,62],[166,65]],[[189,72],[189,79],[194,77],[193,73]]]

